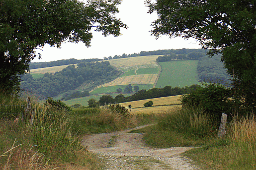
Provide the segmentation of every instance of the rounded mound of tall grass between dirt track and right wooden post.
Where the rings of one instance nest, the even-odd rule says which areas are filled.
[[[145,141],[154,147],[202,146],[204,138],[216,135],[216,120],[203,110],[174,108],[160,113],[157,125],[150,130]]]

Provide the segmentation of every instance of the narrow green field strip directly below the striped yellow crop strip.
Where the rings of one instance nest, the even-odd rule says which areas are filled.
[[[121,88],[122,92],[124,92],[124,89],[126,86],[127,85],[100,87],[90,92],[90,94],[116,93],[116,89],[118,88]],[[134,90],[134,86],[136,86],[136,84],[132,85],[133,90]],[[142,90],[142,89],[149,90],[153,88],[153,84],[138,84],[137,86],[139,86],[139,90]]]

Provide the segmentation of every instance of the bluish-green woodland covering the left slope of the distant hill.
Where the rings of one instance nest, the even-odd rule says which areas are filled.
[[[121,73],[108,61],[81,62],[77,68],[70,65],[55,74],[45,73],[38,79],[27,73],[22,77],[21,88],[44,97],[54,97],[85,84],[84,92],[79,94],[83,97],[88,95],[86,91],[116,79]]]

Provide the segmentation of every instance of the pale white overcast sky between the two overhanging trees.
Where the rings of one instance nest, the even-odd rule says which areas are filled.
[[[134,54],[141,51],[156,51],[169,49],[200,49],[194,39],[183,40],[181,37],[170,39],[162,36],[156,39],[149,32],[152,30],[152,22],[157,19],[157,13],[149,14],[144,0],[123,0],[119,5],[119,13],[116,15],[122,22],[129,26],[121,29],[121,36],[112,35],[104,37],[102,33],[92,31],[91,47],[83,43],[65,42],[61,49],[45,45],[41,50],[41,59],[35,58],[32,62],[55,61],[59,59],[85,59],[114,57],[115,55]]]

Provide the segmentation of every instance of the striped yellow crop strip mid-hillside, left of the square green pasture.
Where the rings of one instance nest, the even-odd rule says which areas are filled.
[[[125,77],[118,77],[109,83],[98,86],[97,88],[128,84],[154,84],[156,79],[157,74],[130,75]]]

